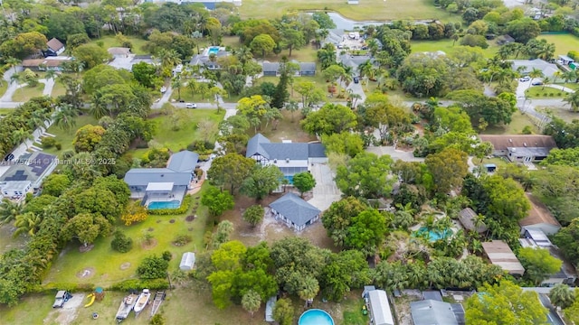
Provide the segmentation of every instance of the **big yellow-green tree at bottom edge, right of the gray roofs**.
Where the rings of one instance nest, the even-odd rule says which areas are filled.
[[[466,303],[469,324],[533,325],[546,322],[547,310],[536,292],[523,290],[515,283],[485,284],[481,294],[472,295]]]

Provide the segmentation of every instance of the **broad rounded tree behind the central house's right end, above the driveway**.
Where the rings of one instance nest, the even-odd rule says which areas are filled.
[[[332,135],[356,127],[356,114],[348,107],[339,104],[326,104],[311,112],[300,122],[301,127],[310,135]]]

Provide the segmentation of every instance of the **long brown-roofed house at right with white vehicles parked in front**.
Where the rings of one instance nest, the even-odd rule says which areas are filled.
[[[540,162],[557,147],[551,135],[479,135],[480,141],[492,144],[493,154],[510,162]]]

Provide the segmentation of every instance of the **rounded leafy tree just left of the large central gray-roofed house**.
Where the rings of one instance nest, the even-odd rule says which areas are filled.
[[[231,192],[239,189],[243,181],[252,174],[255,161],[238,153],[227,153],[217,157],[207,171],[207,178],[223,188],[228,185]]]

